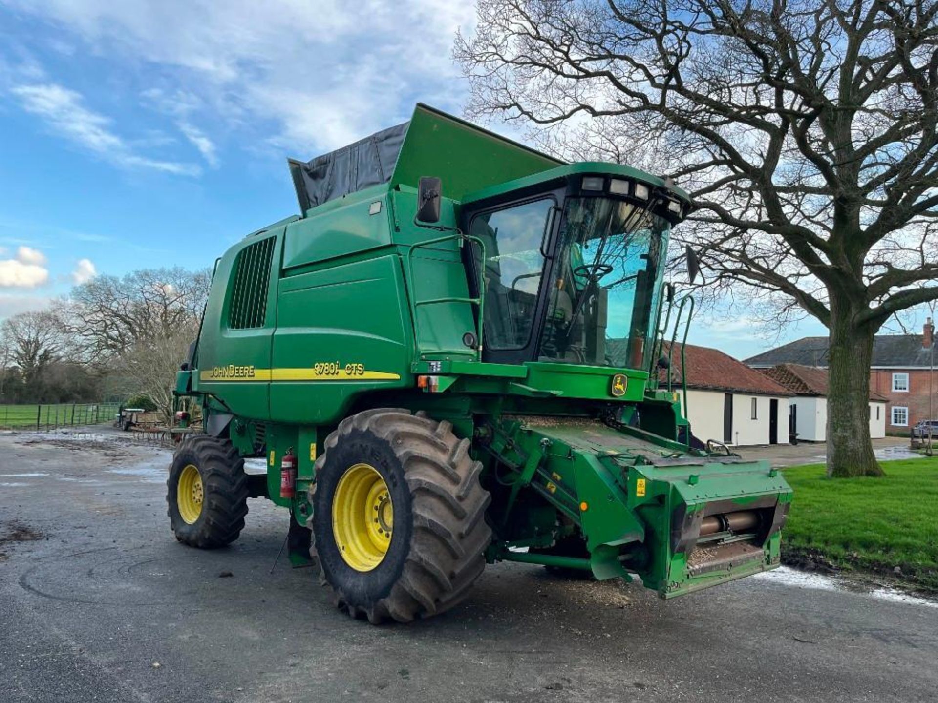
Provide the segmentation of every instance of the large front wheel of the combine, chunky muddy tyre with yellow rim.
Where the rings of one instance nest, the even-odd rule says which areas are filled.
[[[491,498],[479,484],[482,465],[469,456],[469,447],[446,421],[387,408],[347,417],[326,438],[316,461],[312,528],[337,606],[373,624],[408,622],[442,613],[466,597],[485,568],[492,541],[485,520]],[[365,485],[357,492],[341,488],[347,478]],[[367,482],[378,487],[369,490]],[[354,497],[365,493],[389,500],[392,509],[367,501],[357,507]],[[334,513],[335,505],[342,509]],[[393,516],[389,539],[382,532],[384,542],[373,534],[371,543],[361,543],[365,548],[345,544],[350,535],[355,540],[371,530],[371,525],[359,530],[354,516],[359,510],[372,516],[372,509],[375,516],[383,511]],[[380,525],[386,529],[384,517]]]

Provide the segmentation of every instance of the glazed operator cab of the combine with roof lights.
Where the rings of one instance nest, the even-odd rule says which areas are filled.
[[[668,237],[688,196],[610,164],[532,180],[463,202],[470,280],[484,281],[483,360],[650,366]]]

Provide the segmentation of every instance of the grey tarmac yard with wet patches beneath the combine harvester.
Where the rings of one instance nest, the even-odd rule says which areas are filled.
[[[265,501],[234,546],[177,544],[168,463],[0,434],[4,703],[935,700],[938,604],[784,569],[664,603],[498,564],[440,618],[352,621],[314,569],[271,573],[287,517]]]

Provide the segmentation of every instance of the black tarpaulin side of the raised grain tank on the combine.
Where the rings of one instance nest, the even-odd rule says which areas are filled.
[[[410,122],[375,132],[311,161],[290,159],[300,212],[370,186],[387,183],[394,174]]]

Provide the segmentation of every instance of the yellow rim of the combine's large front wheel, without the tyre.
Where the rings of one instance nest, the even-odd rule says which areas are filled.
[[[385,558],[393,528],[385,479],[369,464],[349,467],[332,498],[332,533],[342,559],[356,571],[371,571]]]

